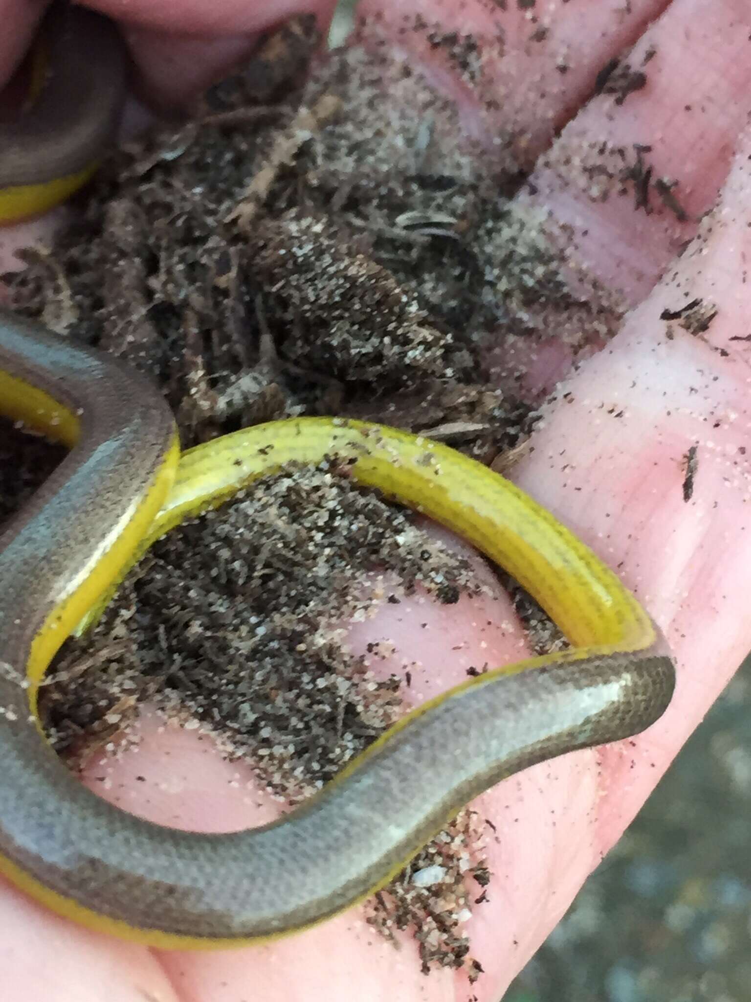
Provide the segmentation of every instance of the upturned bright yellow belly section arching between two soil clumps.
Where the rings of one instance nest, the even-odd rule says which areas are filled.
[[[225,435],[183,453],[146,545],[286,463],[355,460],[352,477],[448,526],[504,567],[577,646],[639,649],[652,621],[620,578],[545,508],[461,453],[397,429],[300,418]]]

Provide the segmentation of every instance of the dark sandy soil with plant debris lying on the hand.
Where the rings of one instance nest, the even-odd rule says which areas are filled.
[[[405,25],[482,86],[471,36]],[[346,50],[322,56],[317,44],[309,18],[289,22],[192,117],[115,151],[54,245],[6,277],[12,304],[158,381],[183,447],[330,414],[501,467],[536,412],[515,392],[524,374],[500,389],[489,355],[552,329],[576,351],[611,333],[620,308],[591,286],[572,291],[583,284],[560,234],[510,201],[526,176],[513,146],[463,138],[452,101],[378,23]],[[602,86],[625,100],[643,75],[614,68]],[[609,182],[632,190],[634,171],[608,158]],[[7,514],[59,456],[11,433],[3,449]],[[297,801],[404,711],[409,665],[377,679],[341,641],[384,575],[397,582],[389,601],[418,584],[446,602],[477,591],[465,561],[412,516],[330,468],[284,471],[153,547],[93,635],[58,657],[50,732],[76,768],[148,699],[200,721]],[[489,879],[479,828],[465,813],[371,903],[385,934],[416,931],[426,970],[481,973],[461,928]],[[437,859],[441,893],[418,891],[413,875]]]

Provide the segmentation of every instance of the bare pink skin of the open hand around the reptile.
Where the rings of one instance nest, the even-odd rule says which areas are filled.
[[[139,22],[144,67],[154,65],[162,45],[169,47],[165,26],[180,36],[178,52],[190,32],[223,36],[204,49],[210,75],[228,50],[234,57],[241,47],[232,31],[246,37],[299,5],[289,0],[282,10],[279,3],[245,0],[210,5],[101,0],[97,6]],[[321,4],[319,9],[324,6],[330,8]],[[405,9],[402,0],[372,0],[369,6],[393,17]],[[578,371],[569,370],[566,353],[549,360],[553,371],[548,377],[566,384],[548,404],[534,451],[516,467],[514,478],[621,569],[667,631],[679,669],[671,707],[633,741],[542,765],[475,805],[493,821],[498,836],[488,847],[495,874],[490,901],[468,924],[473,954],[486,972],[472,987],[462,972],[423,976],[409,937],[403,950],[395,951],[363,924],[359,910],[268,946],[217,954],[160,953],[84,932],[8,890],[0,897],[8,1002],[264,1002],[318,993],[327,1002],[350,1002],[353,984],[362,1002],[394,997],[464,1002],[473,996],[497,1002],[751,647],[746,614],[751,491],[744,455],[751,377],[744,358],[747,344],[732,340],[748,335],[751,316],[751,283],[745,275],[751,255],[751,134],[743,132],[751,93],[751,12],[745,0],[718,0],[709,14],[701,0],[674,0],[670,6],[664,0],[634,0],[630,16],[624,15],[621,0],[538,3],[538,9],[549,12],[555,45],[530,49],[526,39],[533,26],[516,4],[508,6],[506,13],[494,15],[507,28],[507,57],[489,58],[488,72],[499,91],[511,96],[499,102],[494,121],[477,111],[472,94],[454,86],[445,67],[431,65],[425,52],[413,58],[424,60],[436,79],[461,94],[468,125],[476,132],[513,128],[532,135],[531,162],[543,155],[537,194],[523,197],[574,224],[579,262],[634,307],[615,341]],[[23,47],[30,30],[27,7],[26,0],[0,0],[0,23],[11,25],[6,38],[16,33],[22,39],[13,51]],[[485,25],[492,33],[487,4],[468,0],[459,13],[439,0],[422,0],[421,7],[430,20]],[[560,126],[572,117],[597,71],[666,7],[649,29],[658,54],[650,64],[648,89],[630,95],[620,109],[610,97],[592,100],[549,147],[550,122]],[[158,28],[150,38],[149,25]],[[9,57],[12,46],[5,40],[0,44],[8,45],[0,49],[0,59]],[[648,45],[649,39],[640,41],[638,51]],[[188,61],[194,62],[200,45],[191,41],[190,46]],[[571,69],[562,82],[555,64],[564,48]],[[175,75],[180,63],[178,54]],[[530,89],[533,74],[538,87]],[[158,74],[149,79],[158,84]],[[188,89],[195,85],[192,68],[185,79]],[[174,99],[179,89],[170,81],[162,97]],[[538,101],[535,94],[543,89],[546,96]],[[686,111],[686,104],[692,110]],[[694,235],[695,222],[636,213],[630,198],[592,203],[581,190],[564,185],[555,170],[556,156],[574,134],[652,144],[658,172],[680,177],[684,204],[694,218],[721,192],[718,207],[703,224],[705,241],[676,260],[677,241]],[[22,242],[31,235],[33,230],[19,229],[13,238]],[[7,234],[6,246],[10,238]],[[666,339],[660,313],[698,296],[721,307],[709,331],[700,340],[673,325],[675,337]],[[566,401],[563,392],[571,394]],[[694,496],[685,503],[682,457],[692,445],[698,446],[699,471]],[[489,620],[493,625],[484,625]],[[484,603],[464,600],[451,615],[424,599],[398,606],[396,615],[387,606],[377,619],[354,627],[350,641],[361,649],[383,637],[396,642],[398,653],[393,664],[374,662],[373,670],[401,671],[412,660],[425,665],[414,668],[416,701],[462,680],[469,664],[503,663],[524,653],[520,628],[503,595]],[[142,730],[137,749],[90,767],[87,780],[103,796],[186,828],[237,829],[276,811],[248,787],[248,770],[224,763],[206,738],[198,742],[195,731],[161,729],[153,719],[146,719]]]

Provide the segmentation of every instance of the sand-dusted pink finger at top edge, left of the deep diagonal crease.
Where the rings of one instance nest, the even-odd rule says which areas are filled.
[[[441,73],[514,176],[532,167],[592,95],[603,66],[667,3],[362,0],[357,10],[383,25],[411,65]]]

